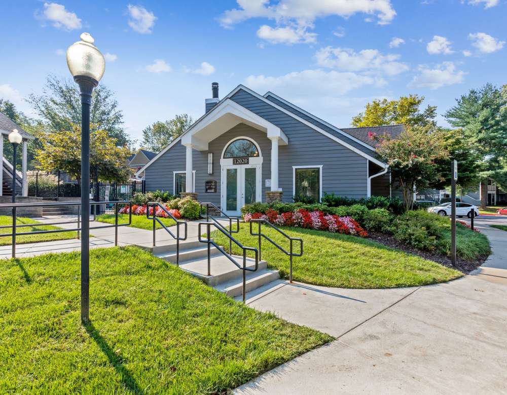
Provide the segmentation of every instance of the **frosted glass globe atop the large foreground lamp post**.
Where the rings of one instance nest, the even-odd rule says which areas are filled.
[[[104,75],[105,60],[102,53],[93,45],[95,40],[89,33],[82,33],[78,41],[67,49],[67,66],[70,74],[93,78],[97,83]]]

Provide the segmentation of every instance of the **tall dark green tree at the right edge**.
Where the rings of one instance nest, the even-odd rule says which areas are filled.
[[[487,179],[507,189],[507,86],[486,84],[456,99],[445,113],[447,122],[463,129],[463,139],[477,156],[482,180],[483,207],[487,206]],[[460,167],[461,168],[461,167]]]

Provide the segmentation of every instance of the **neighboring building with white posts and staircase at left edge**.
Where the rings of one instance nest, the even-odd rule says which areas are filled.
[[[12,158],[4,157],[4,143],[10,144],[7,136],[12,132],[13,129],[17,129],[18,132],[23,137],[23,141],[18,148],[18,155],[22,157],[22,170],[21,172],[16,171],[16,194],[27,196],[28,195],[28,181],[26,177],[26,169],[27,169],[27,144],[28,140],[33,140],[33,137],[28,132],[25,132],[22,128],[16,125],[7,115],[0,112],[0,134],[2,138],[0,138],[0,152],[2,152],[3,158],[3,168],[2,172],[0,172],[0,196],[2,195],[12,195],[12,164],[9,161],[12,161]]]

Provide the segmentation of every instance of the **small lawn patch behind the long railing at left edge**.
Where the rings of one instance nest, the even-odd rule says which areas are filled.
[[[33,224],[34,226],[18,227],[17,225]],[[33,232],[38,230],[55,230],[61,229],[52,225],[39,225],[40,222],[34,221],[30,218],[18,217],[16,218],[16,232]],[[12,233],[12,216],[0,215],[0,225],[11,225],[8,228],[0,229],[0,234]],[[68,240],[76,239],[77,232],[56,232],[56,233],[43,233],[43,234],[25,234],[16,236],[16,244],[25,243],[38,243],[38,242],[51,242],[53,240]],[[0,246],[9,246],[12,244],[12,236],[0,237]]]

